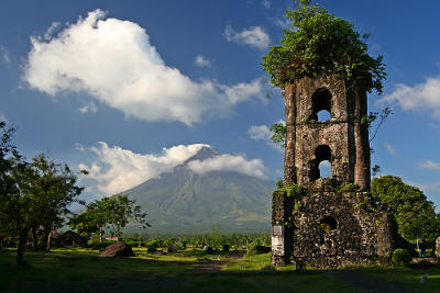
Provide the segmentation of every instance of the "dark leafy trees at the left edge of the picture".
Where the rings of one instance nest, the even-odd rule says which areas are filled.
[[[31,162],[19,155],[12,143],[14,128],[0,122],[0,227],[19,236],[16,262],[25,264],[23,253],[31,229],[44,228],[46,249],[51,234],[64,223],[68,206],[78,201],[82,188],[67,165],[40,155]]]

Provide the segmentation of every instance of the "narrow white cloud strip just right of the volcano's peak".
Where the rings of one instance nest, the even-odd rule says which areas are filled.
[[[264,165],[260,159],[248,160],[240,155],[219,155],[206,160],[193,160],[188,168],[196,173],[234,171],[264,179]]]

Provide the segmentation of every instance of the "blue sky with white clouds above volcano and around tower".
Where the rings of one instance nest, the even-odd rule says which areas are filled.
[[[266,132],[284,104],[260,64],[292,3],[1,1],[0,116],[28,157],[91,170],[88,196],[156,177],[201,144],[223,157],[198,170],[276,179],[283,153]],[[371,54],[387,65],[384,94],[369,101],[394,115],[372,143],[372,164],[440,206],[440,2],[321,4],[370,33]]]

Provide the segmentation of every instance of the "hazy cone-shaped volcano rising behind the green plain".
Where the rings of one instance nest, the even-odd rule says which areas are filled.
[[[122,192],[147,212],[150,232],[199,233],[212,226],[227,232],[270,229],[273,181],[232,171],[198,174],[187,168],[190,160],[216,155],[204,148],[173,172]]]

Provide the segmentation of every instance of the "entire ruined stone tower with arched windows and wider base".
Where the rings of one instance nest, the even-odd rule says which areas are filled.
[[[392,224],[370,209],[366,91],[322,75],[295,80],[284,95],[284,187],[304,191],[273,194],[273,263],[333,268],[386,257]],[[324,161],[330,178],[320,173]]]

